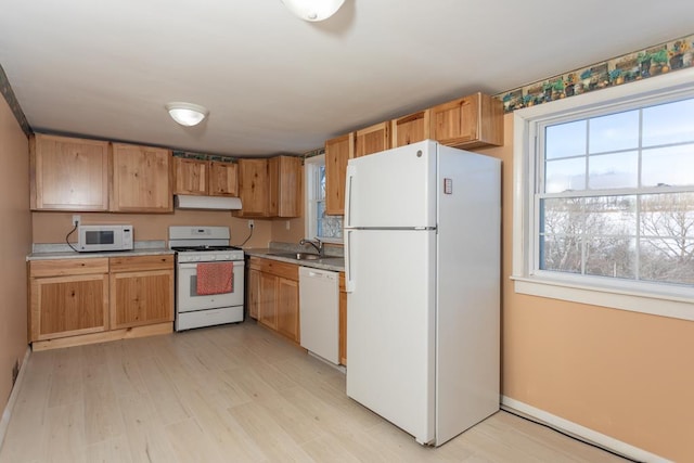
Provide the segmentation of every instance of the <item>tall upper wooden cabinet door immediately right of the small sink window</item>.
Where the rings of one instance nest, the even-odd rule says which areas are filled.
[[[355,154],[355,137],[348,133],[325,142],[325,214],[345,214],[347,160]]]

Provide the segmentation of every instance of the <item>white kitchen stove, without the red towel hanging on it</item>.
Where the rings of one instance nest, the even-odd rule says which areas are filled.
[[[244,253],[229,245],[229,227],[169,227],[176,250],[176,331],[243,321]],[[230,263],[231,291],[198,294],[198,265]]]

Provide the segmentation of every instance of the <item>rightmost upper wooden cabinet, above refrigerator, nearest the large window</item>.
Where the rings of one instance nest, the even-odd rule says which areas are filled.
[[[475,93],[429,111],[430,138],[441,144],[463,149],[503,144],[503,106],[499,100]]]

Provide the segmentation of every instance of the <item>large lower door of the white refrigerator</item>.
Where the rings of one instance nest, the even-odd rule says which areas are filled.
[[[347,395],[421,443],[435,438],[434,230],[346,230]]]

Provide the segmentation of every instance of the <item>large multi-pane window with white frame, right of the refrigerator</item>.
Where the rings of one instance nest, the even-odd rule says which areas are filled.
[[[520,110],[514,130],[516,291],[694,320],[692,73]]]

